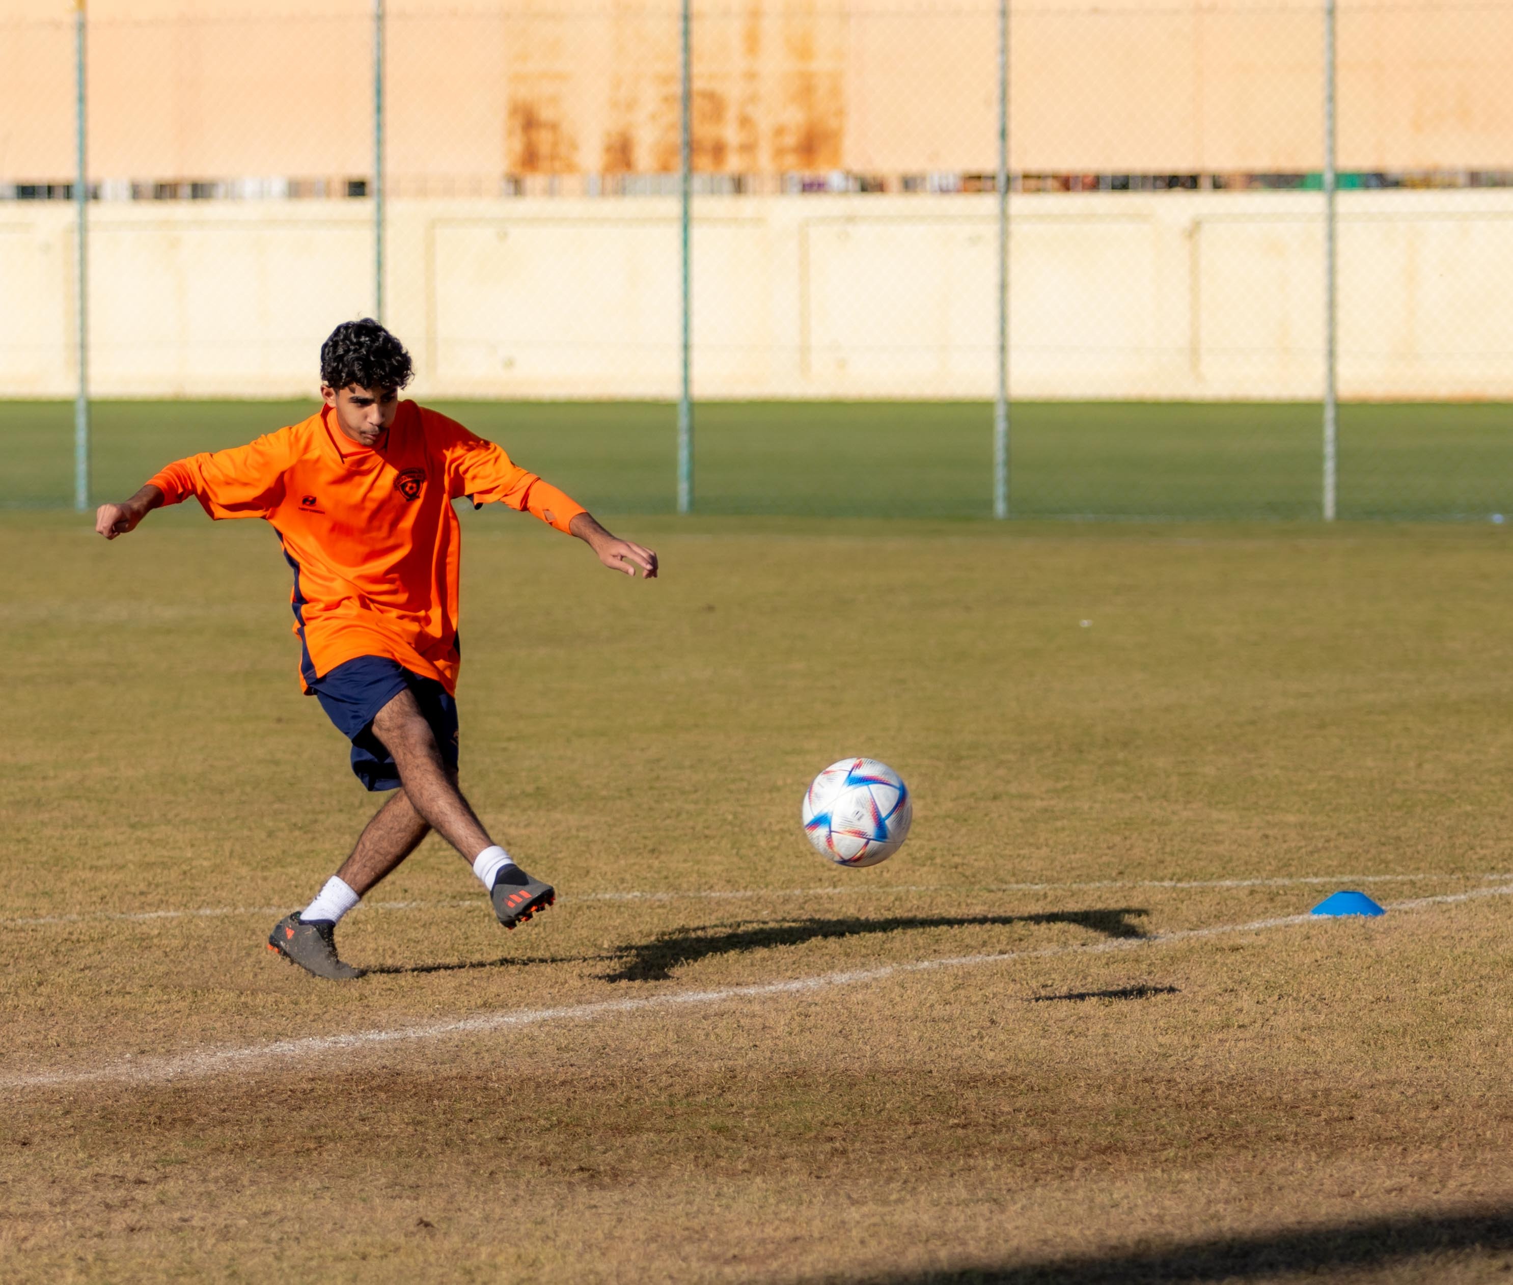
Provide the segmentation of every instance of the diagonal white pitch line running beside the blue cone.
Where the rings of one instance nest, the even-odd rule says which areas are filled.
[[[1513,895],[1513,882],[1499,887],[1471,888],[1465,893],[1389,902],[1386,908],[1389,911],[1412,911],[1434,905],[1466,902],[1477,898],[1508,895]],[[1195,941],[1235,932],[1260,932],[1268,928],[1294,928],[1303,923],[1322,922],[1328,920],[1321,920],[1313,914],[1286,914],[1275,919],[1254,919],[1248,923],[1182,928],[1173,932],[1157,932],[1151,937],[1115,937],[1085,946],[1050,946],[1041,951],[1005,951],[1000,954],[956,955],[944,960],[915,960],[908,964],[882,964],[875,969],[820,973],[817,976],[794,978],[781,982],[760,982],[756,985],[723,987],[720,990],[685,990],[635,999],[604,999],[593,1003],[570,1003],[557,1008],[517,1008],[505,1013],[484,1013],[478,1017],[422,1022],[392,1029],[353,1031],[345,1035],[304,1035],[294,1040],[269,1040],[260,1044],[203,1049],[166,1056],[133,1058],[127,1053],[118,1061],[101,1063],[92,1067],[0,1075],[0,1090],[65,1088],[86,1084],[163,1084],[169,1081],[203,1079],[238,1072],[248,1066],[262,1070],[272,1063],[298,1061],[348,1049],[442,1040],[455,1035],[487,1035],[495,1031],[536,1026],[543,1022],[595,1022],[602,1017],[617,1017],[626,1013],[693,1008],[738,999],[763,999],[775,994],[805,994],[846,985],[861,985],[882,981],[884,978],[940,972],[943,969],[976,969],[986,964],[1008,964],[1018,960],[1049,960],[1058,955],[1108,955],[1117,951],[1168,946],[1174,941]]]

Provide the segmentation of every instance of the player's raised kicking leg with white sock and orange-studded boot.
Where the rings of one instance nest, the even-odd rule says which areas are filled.
[[[374,717],[372,730],[399,769],[399,781],[410,805],[474,867],[474,873],[489,888],[493,913],[505,928],[523,923],[557,901],[551,884],[527,875],[489,837],[478,814],[457,789],[457,778],[442,758],[436,734],[421,713],[415,693],[405,689],[395,696]]]

